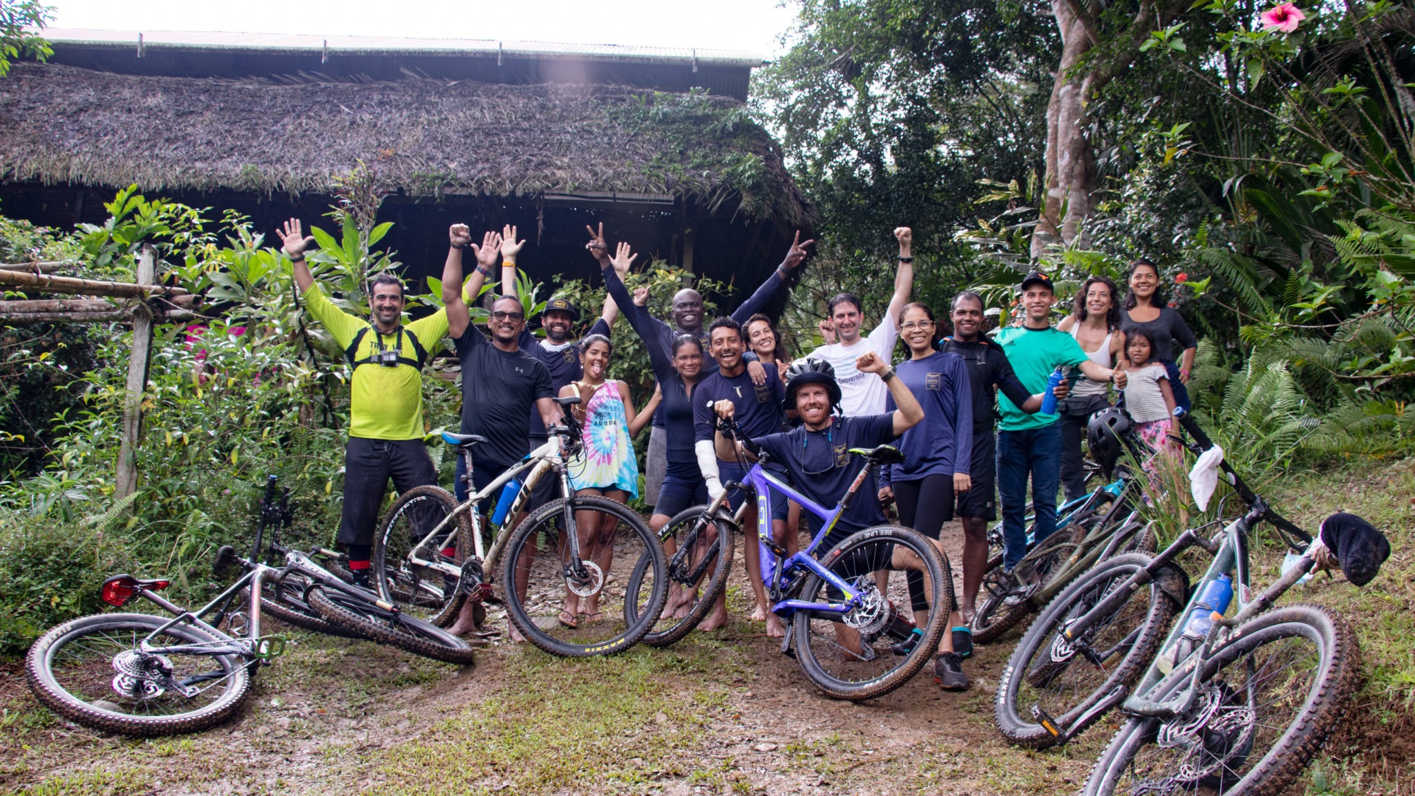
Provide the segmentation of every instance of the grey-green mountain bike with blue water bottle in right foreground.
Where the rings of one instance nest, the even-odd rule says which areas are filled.
[[[1180,423],[1201,449],[1213,446],[1191,418],[1182,415]],[[1227,462],[1220,466],[1248,506],[1242,517],[1211,540],[1201,535],[1208,525],[1201,525],[1155,557],[1101,562],[1047,606],[999,683],[999,724],[1020,720],[1022,683],[1070,695],[1057,717],[1033,705],[1036,724],[1051,737],[1033,745],[1064,744],[1112,708],[1128,717],[1097,761],[1087,795],[1278,793],[1347,710],[1358,678],[1350,625],[1315,605],[1275,608],[1327,545],[1274,511]],[[1254,596],[1248,537],[1262,521],[1302,557]],[[1374,528],[1370,533],[1380,537]],[[1380,541],[1388,554],[1388,542]],[[1187,589],[1191,596],[1179,612],[1184,620],[1160,643],[1186,599],[1187,578],[1174,561],[1190,547],[1208,551],[1213,564]],[[1235,610],[1227,618],[1231,598]]]

